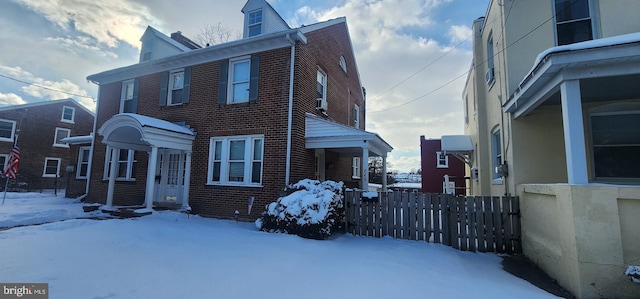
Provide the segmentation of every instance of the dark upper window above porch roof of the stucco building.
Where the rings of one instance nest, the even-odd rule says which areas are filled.
[[[589,0],[555,0],[558,46],[593,39]]]

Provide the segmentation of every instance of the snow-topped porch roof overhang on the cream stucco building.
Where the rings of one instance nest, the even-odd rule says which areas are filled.
[[[624,77],[637,74],[640,74],[640,33],[550,48],[538,56],[503,108],[514,119],[527,115],[550,98],[557,98],[560,85],[568,80],[594,79],[600,80],[594,81],[600,85],[617,81],[619,88],[600,92],[607,92],[611,99],[635,96],[622,87],[637,86],[635,77]],[[613,77],[620,79],[605,81]],[[602,88],[592,87],[594,92],[598,89]]]

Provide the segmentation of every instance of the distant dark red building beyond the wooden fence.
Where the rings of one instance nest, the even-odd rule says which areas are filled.
[[[425,139],[420,136],[422,167],[422,192],[444,193],[444,176],[449,176],[450,187],[456,195],[466,194],[464,162],[441,150],[440,139]]]

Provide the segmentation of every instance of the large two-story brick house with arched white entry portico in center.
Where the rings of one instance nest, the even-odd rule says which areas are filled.
[[[392,148],[364,130],[346,19],[291,29],[264,0],[242,12],[240,40],[201,48],[149,27],[139,63],[88,77],[100,87],[89,201],[254,219],[249,198],[261,209],[303,178],[366,189],[368,157]]]

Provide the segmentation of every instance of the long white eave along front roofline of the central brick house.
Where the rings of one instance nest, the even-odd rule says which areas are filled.
[[[121,67],[87,77],[87,80],[98,85],[119,82],[177,68],[250,55],[262,51],[269,51],[290,47],[293,42],[307,42],[307,38],[298,29],[284,30],[272,34],[258,35],[250,38],[204,47],[188,52],[171,55]]]

